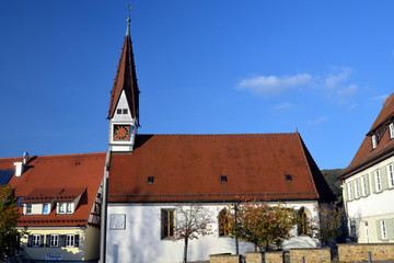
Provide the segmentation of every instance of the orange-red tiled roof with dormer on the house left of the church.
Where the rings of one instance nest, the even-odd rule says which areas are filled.
[[[96,193],[104,174],[106,152],[68,155],[68,156],[35,156],[28,159],[27,170],[21,178],[14,175],[9,184],[15,190],[15,197],[31,197],[34,202],[49,201],[61,190],[61,195],[78,196],[84,190],[86,193],[72,215],[56,215],[53,209],[49,215],[22,215],[19,226],[86,226]],[[14,162],[21,158],[0,159],[0,169],[13,169]]]

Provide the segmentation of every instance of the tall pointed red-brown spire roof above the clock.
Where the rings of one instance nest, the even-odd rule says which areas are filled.
[[[120,54],[119,64],[116,71],[114,87],[111,91],[111,102],[108,117],[112,118],[116,105],[119,101],[121,91],[125,91],[130,113],[134,118],[139,119],[139,89],[137,84],[136,65],[130,37],[130,12],[127,19],[127,31],[124,46]]]

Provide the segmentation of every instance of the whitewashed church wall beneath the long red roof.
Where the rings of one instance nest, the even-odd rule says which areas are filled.
[[[292,202],[286,205],[296,210],[304,207],[308,214],[317,218],[317,202]],[[227,207],[227,204],[208,204],[205,207],[212,214],[213,235],[189,241],[188,260],[209,260],[209,254],[217,253],[235,254],[235,240],[229,237],[219,237],[218,216]],[[169,208],[175,209],[176,205],[109,204],[107,207],[106,262],[182,262],[183,241],[161,239],[161,209]],[[111,229],[111,216],[115,214],[125,215],[125,229]],[[244,254],[246,251],[253,251],[254,247],[250,243],[240,242],[239,249],[240,253]]]

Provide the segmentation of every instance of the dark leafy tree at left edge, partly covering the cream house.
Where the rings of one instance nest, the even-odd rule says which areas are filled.
[[[0,187],[0,261],[14,255],[20,248],[20,238],[26,233],[16,227],[20,213],[10,185]]]

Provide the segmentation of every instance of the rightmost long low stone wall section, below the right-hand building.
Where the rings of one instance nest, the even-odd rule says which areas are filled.
[[[394,260],[394,243],[338,244],[341,262],[368,261],[368,252],[371,252],[372,262]]]

